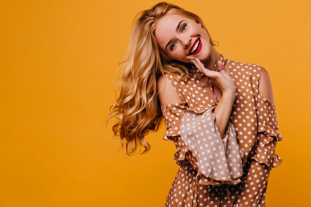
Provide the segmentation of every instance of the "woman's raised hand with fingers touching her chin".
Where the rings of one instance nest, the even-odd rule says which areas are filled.
[[[220,71],[210,70],[204,67],[204,64],[196,58],[191,62],[199,69],[203,74],[212,78],[216,85],[222,90],[222,93],[233,93],[235,95],[234,81],[232,77],[226,72],[222,61],[218,61],[218,68]]]

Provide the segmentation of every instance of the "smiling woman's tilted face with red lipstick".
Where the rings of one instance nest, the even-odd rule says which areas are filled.
[[[165,53],[178,61],[205,61],[211,52],[210,38],[200,23],[178,14],[166,14],[156,22],[156,41]],[[196,50],[194,50],[196,49]]]

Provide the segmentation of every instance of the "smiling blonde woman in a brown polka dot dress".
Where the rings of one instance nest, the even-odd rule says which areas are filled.
[[[134,24],[120,95],[108,120],[133,154],[157,131],[175,142],[178,173],[165,207],[265,207],[268,176],[282,159],[268,72],[219,54],[202,19],[160,2]]]

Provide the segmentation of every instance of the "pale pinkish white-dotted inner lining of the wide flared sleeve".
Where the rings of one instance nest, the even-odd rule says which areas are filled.
[[[196,157],[197,175],[200,184],[216,180],[221,184],[235,185],[243,174],[242,154],[236,141],[236,133],[229,122],[226,135],[221,138],[215,123],[212,106],[202,114],[185,111],[180,125],[181,138],[192,155]]]

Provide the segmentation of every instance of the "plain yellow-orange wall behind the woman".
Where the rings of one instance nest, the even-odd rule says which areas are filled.
[[[161,207],[176,175],[164,125],[128,157],[103,120],[135,14],[156,0],[15,0],[0,6],[0,207]],[[280,132],[268,207],[310,204],[310,2],[172,0],[226,58],[270,74]]]

